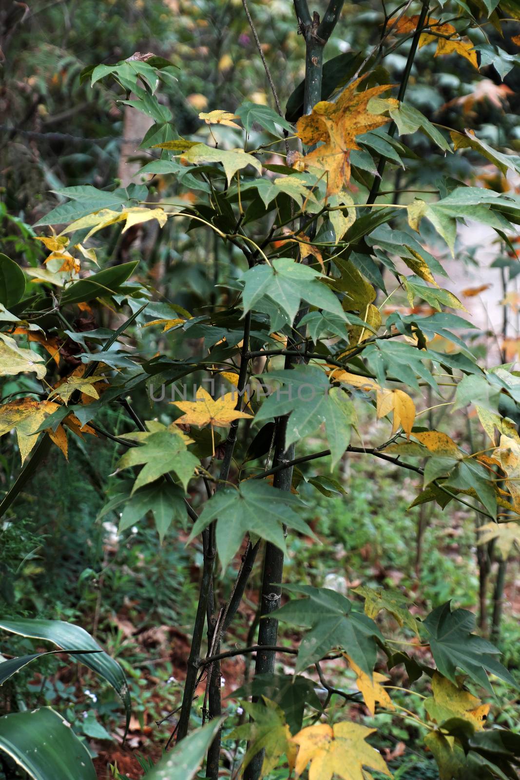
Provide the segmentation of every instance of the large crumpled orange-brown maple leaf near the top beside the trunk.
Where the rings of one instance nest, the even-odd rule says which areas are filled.
[[[304,144],[324,143],[299,161],[327,171],[327,196],[336,195],[350,181],[350,152],[359,149],[356,136],[385,125],[390,120],[372,113],[368,104],[373,97],[386,92],[391,85],[371,87],[356,92],[364,76],[352,82],[335,103],[320,101],[310,114],[300,117],[296,134]],[[394,105],[398,105],[394,101]]]

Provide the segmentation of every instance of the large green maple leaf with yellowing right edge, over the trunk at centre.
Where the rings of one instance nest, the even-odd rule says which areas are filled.
[[[264,401],[255,420],[289,414],[287,446],[312,434],[324,423],[331,448],[331,469],[334,469],[350,443],[352,426],[356,426],[356,410],[348,395],[341,388],[331,387],[327,375],[316,366],[270,371],[263,378],[281,381],[284,388],[274,391]]]

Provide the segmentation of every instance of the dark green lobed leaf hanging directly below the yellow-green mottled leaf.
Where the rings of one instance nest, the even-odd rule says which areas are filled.
[[[119,534],[135,525],[147,512],[154,513],[155,527],[162,543],[173,519],[178,519],[182,527],[186,526],[186,505],[180,488],[168,482],[141,488],[125,504],[119,520]]]

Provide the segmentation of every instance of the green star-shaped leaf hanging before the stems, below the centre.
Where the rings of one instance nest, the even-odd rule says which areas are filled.
[[[313,536],[310,527],[294,511],[302,502],[292,493],[271,488],[260,480],[244,480],[239,488],[221,488],[204,504],[188,541],[217,520],[216,541],[222,569],[239,550],[246,534],[255,534],[276,547],[285,548],[284,525]]]

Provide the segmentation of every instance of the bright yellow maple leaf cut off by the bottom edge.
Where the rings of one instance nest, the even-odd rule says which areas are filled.
[[[292,738],[299,746],[296,776],[310,762],[309,780],[331,780],[334,774],[343,780],[363,780],[363,767],[391,777],[384,758],[365,742],[375,731],[350,722],[307,726]]]

